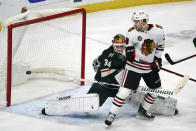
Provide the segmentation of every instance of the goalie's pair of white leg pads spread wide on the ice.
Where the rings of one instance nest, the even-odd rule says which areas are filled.
[[[130,106],[139,106],[144,95],[144,93],[139,91],[132,93],[125,103]],[[76,112],[98,111],[100,108],[100,99],[99,94],[96,93],[48,99],[46,100],[45,107],[42,109],[42,114],[67,115]],[[178,113],[177,99],[158,96],[150,112],[166,116],[176,115]]]

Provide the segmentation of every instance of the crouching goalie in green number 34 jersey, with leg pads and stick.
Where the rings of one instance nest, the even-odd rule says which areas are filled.
[[[45,107],[42,109],[44,115],[66,115],[76,112],[98,111],[108,97],[115,97],[119,89],[119,76],[124,69],[126,58],[123,55],[126,45],[126,37],[117,34],[112,40],[112,45],[104,50],[102,54],[93,61],[93,68],[96,71],[95,80],[87,94],[57,97],[46,100]],[[184,80],[184,79],[183,79]],[[176,91],[167,92],[165,90],[148,90],[147,87],[138,88],[127,97],[125,103],[139,106],[145,93],[157,93],[156,102],[151,107],[152,113],[160,115],[175,115],[177,110],[177,99],[168,96],[179,90],[186,84],[188,77],[177,86]],[[184,83],[182,85],[182,83]],[[147,90],[143,90],[147,89]]]

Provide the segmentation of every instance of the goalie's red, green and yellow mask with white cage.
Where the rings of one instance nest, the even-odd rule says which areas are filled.
[[[114,52],[123,53],[126,45],[126,38],[122,34],[117,34],[114,36],[112,40],[112,45],[114,48]]]

